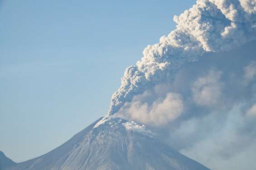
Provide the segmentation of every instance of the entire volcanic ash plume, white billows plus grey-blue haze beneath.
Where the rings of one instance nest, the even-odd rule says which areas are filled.
[[[198,0],[174,21],[177,28],[126,69],[108,116],[146,124],[211,169],[251,169],[256,1]]]

